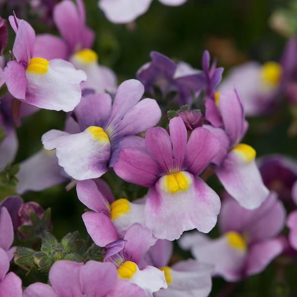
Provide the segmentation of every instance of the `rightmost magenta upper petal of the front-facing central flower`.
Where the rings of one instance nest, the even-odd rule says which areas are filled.
[[[194,175],[200,174],[217,155],[220,143],[205,128],[196,128],[190,136],[186,148],[187,170]]]

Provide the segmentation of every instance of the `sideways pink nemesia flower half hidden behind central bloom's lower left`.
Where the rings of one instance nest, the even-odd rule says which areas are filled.
[[[78,181],[76,191],[79,200],[91,209],[82,217],[89,235],[99,247],[123,239],[134,223],[145,226],[144,204],[125,198],[114,200],[103,180]]]

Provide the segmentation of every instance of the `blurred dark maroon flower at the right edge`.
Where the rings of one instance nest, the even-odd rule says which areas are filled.
[[[279,198],[288,202],[292,198],[292,188],[297,181],[297,163],[281,154],[261,157],[257,165],[265,186],[278,193]]]

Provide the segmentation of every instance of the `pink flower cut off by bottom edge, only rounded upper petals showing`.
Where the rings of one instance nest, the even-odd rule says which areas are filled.
[[[50,285],[30,285],[23,297],[146,297],[138,286],[118,280],[113,264],[88,261],[56,261],[49,271]]]

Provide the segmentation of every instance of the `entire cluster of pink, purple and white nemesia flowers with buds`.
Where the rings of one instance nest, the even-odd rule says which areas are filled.
[[[134,2],[99,7],[128,23],[151,0]],[[256,159],[245,136],[246,114],[274,112],[281,96],[296,104],[297,41],[279,63],[247,62],[223,80],[207,50],[201,69],[152,51],[136,79],[118,84],[92,49],[83,0],[62,0],[52,15],[60,37],[9,16],[9,61],[0,23],[0,187],[14,195],[0,202],[0,297],[206,297],[214,276],[237,282],[280,255],[296,259],[297,163]],[[40,109],[64,111],[64,128],[11,165],[17,127]],[[25,198],[64,182],[82,203],[87,240],[57,240],[51,210]],[[175,240],[193,258],[175,253]]]

